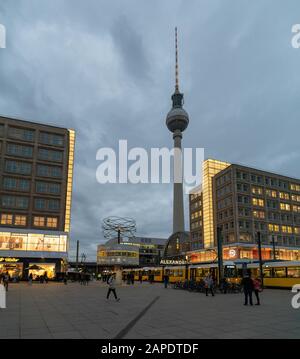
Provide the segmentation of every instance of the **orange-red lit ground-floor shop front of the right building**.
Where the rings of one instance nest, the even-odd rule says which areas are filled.
[[[263,260],[273,260],[274,253],[273,248],[270,246],[263,246],[261,249]],[[275,257],[277,260],[284,261],[297,261],[300,260],[300,250],[297,248],[283,248],[275,247]],[[217,249],[212,248],[209,250],[200,250],[195,252],[189,252],[188,258],[190,263],[202,263],[217,261]],[[223,247],[223,260],[258,260],[258,248],[257,246],[224,246]]]

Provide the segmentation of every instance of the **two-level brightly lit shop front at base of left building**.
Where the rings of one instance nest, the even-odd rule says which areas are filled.
[[[66,269],[68,235],[65,232],[34,231],[1,228],[0,274],[11,279],[33,279],[47,275],[54,279],[56,273]]]

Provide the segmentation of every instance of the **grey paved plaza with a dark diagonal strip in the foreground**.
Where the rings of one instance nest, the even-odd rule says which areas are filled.
[[[121,286],[120,302],[107,286],[11,284],[0,309],[0,338],[300,338],[300,309],[292,293],[265,290],[260,307],[242,294],[206,297],[162,284]]]

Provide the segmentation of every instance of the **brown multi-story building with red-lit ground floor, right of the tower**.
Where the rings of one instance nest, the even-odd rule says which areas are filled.
[[[211,160],[205,161],[204,168],[208,161]],[[205,180],[202,186],[205,188]],[[263,259],[300,259],[300,180],[226,164],[212,176],[209,186],[212,193],[210,204],[205,208],[203,199],[199,209],[202,211],[203,240],[199,242],[199,250],[195,251],[191,246],[189,255],[192,262],[216,258],[217,227],[222,230],[224,259],[258,259],[258,232]],[[190,195],[190,208],[192,196],[193,193]],[[201,194],[198,196],[201,198]],[[191,225],[193,215],[191,211]],[[209,218],[209,230],[205,232],[206,217]]]

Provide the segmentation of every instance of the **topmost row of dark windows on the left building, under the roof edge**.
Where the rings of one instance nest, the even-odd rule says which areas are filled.
[[[4,126],[3,124],[0,125],[0,136],[4,137]],[[17,140],[27,141],[27,142],[33,142],[35,140],[36,131],[21,127],[8,127],[8,137],[14,138]],[[64,145],[64,136],[55,134],[55,133],[49,133],[49,132],[39,132],[39,142],[43,143],[45,145],[50,146],[63,146]]]

